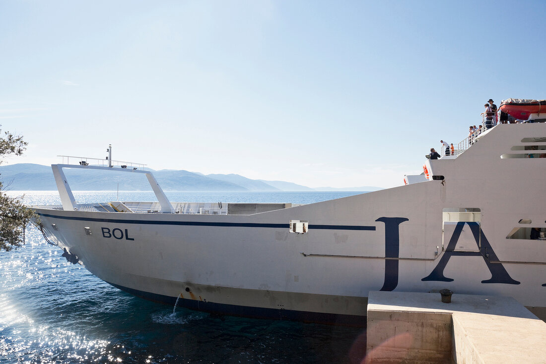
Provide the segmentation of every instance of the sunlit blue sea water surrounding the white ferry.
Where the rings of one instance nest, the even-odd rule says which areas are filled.
[[[12,196],[23,192],[9,192]],[[55,191],[27,204],[60,204]],[[166,192],[170,201],[312,203],[360,192]],[[152,192],[74,192],[79,203]],[[134,297],[72,265],[34,227],[0,251],[0,363],[360,363],[364,328],[217,316]],[[317,277],[317,279],[320,279]]]

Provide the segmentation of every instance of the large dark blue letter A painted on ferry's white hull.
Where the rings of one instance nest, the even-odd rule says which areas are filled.
[[[457,242],[459,240],[459,237],[461,236],[462,227],[465,224],[468,224],[468,226],[470,226],[470,230],[472,231],[472,235],[474,236],[474,239],[476,240],[476,245],[478,245],[478,248],[479,248],[479,243],[478,243],[479,238],[481,238],[482,247],[479,248],[480,251],[454,251],[455,246],[457,245]],[[486,257],[485,253],[489,254],[489,256]],[[495,251],[493,251],[493,248],[491,248],[491,244],[489,244],[488,240],[485,238],[485,235],[480,230],[479,225],[476,222],[462,222],[462,221],[457,223],[457,226],[455,227],[453,235],[451,239],[449,240],[447,249],[446,251],[444,251],[442,259],[440,259],[440,262],[438,262],[438,265],[432,270],[432,272],[428,276],[426,276],[425,278],[421,280],[435,280],[435,281],[444,281],[444,282],[453,281],[453,278],[445,277],[443,275],[443,271],[446,268],[446,265],[449,259],[454,255],[481,256],[483,258],[483,261],[489,268],[489,272],[491,272],[491,278],[482,280],[482,283],[520,284],[519,281],[514,280],[512,279],[512,277],[510,277],[510,275],[508,274],[508,272],[506,271],[502,263],[491,262],[491,261],[498,262],[498,258],[497,258],[497,255],[495,254]]]

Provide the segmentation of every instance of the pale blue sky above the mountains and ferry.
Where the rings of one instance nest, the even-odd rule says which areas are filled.
[[[546,99],[546,2],[0,1],[0,124],[57,155],[391,187]]]

